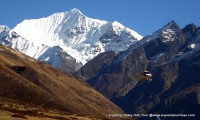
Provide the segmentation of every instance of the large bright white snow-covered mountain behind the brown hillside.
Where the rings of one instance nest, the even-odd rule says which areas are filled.
[[[75,70],[80,68],[80,64],[84,65],[99,53],[124,51],[142,38],[141,35],[117,21],[91,19],[78,9],[55,13],[46,18],[24,20],[12,31],[21,36],[20,39],[17,37],[14,40],[8,40],[12,48],[36,59],[52,63],[49,57],[55,57],[57,53],[47,52],[49,49],[59,47],[62,53],[68,54],[70,59],[74,58],[75,62],[79,63],[79,67]],[[8,45],[5,42],[3,44]],[[61,56],[58,54],[55,59],[61,60]],[[63,62],[66,61],[60,63]],[[52,64],[60,66],[59,63]],[[74,72],[74,70],[68,72]]]

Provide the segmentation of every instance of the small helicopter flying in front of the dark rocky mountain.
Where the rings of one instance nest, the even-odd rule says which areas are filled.
[[[144,70],[140,75],[136,77],[138,80],[147,80],[148,82],[152,81],[152,74],[150,71]]]

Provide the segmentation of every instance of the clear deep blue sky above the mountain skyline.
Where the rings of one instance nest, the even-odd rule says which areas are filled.
[[[118,21],[145,36],[175,20],[183,28],[200,26],[200,0],[0,0],[0,24],[15,27],[24,19],[78,8],[87,17]]]

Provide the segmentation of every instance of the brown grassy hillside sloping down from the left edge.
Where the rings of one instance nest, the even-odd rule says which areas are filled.
[[[0,97],[83,115],[123,113],[86,83],[2,45]]]

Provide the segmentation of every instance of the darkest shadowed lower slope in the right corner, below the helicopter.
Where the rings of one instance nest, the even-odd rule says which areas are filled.
[[[153,70],[152,82],[141,82],[126,96],[114,101],[129,113],[193,113],[198,116],[199,53]]]

